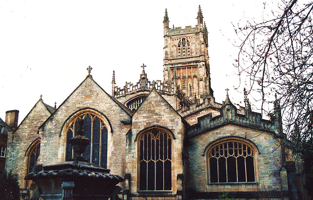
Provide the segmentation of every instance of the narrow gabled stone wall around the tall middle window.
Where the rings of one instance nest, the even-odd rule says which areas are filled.
[[[133,115],[132,131],[127,138],[127,173],[131,178],[131,193],[137,194],[139,191],[139,171],[138,171],[138,144],[136,141],[140,131],[149,127],[161,127],[174,134],[172,144],[172,191],[177,192],[177,176],[183,173],[182,149],[184,138],[184,127],[182,118],[166,102],[156,90],[153,90],[142,105]],[[149,196],[149,194],[147,194]]]

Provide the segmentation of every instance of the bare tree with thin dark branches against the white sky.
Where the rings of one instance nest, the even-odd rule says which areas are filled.
[[[294,146],[307,148],[303,142],[313,138],[313,3],[277,0],[276,5],[272,10],[264,3],[262,22],[235,27],[241,39],[235,66],[248,76],[248,91],[260,94],[262,113],[277,93],[284,133]]]

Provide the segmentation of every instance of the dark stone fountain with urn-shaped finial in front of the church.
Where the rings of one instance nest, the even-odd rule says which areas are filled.
[[[79,122],[80,127],[82,122]],[[82,156],[89,144],[83,136],[83,128],[78,128],[77,136],[70,139],[74,159],[56,165],[44,166],[41,171],[31,172],[25,179],[33,180],[37,190],[30,199],[39,196],[44,200],[115,200],[121,190],[117,184],[124,179],[111,175],[110,170],[87,162]],[[37,193],[37,194],[35,194]],[[39,193],[39,194],[38,194]],[[33,198],[34,197],[34,198]]]

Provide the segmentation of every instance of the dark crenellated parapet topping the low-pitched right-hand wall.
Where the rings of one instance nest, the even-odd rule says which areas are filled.
[[[265,131],[279,137],[279,121],[277,117],[270,120],[262,119],[261,113],[246,110],[245,114],[239,114],[227,95],[227,98],[220,109],[220,115],[212,117],[212,113],[198,118],[198,123],[187,130],[187,137],[192,138],[207,131],[221,127],[222,125],[233,124]]]

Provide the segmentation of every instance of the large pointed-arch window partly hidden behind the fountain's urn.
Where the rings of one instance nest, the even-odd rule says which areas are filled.
[[[73,148],[69,144],[69,139],[75,136],[77,132],[77,119],[84,120],[84,136],[89,138],[89,145],[83,154],[84,158],[100,167],[107,168],[108,129],[104,125],[103,120],[92,113],[80,115],[69,125],[67,130],[66,160],[69,161],[73,157]]]

